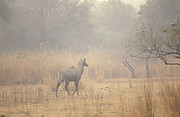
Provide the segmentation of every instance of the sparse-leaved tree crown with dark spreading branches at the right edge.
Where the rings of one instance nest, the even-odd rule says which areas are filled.
[[[174,20],[170,26],[163,26],[162,33],[154,33],[151,28],[142,26],[136,33],[136,39],[129,46],[128,54],[137,58],[158,58],[166,65],[180,65],[180,19]],[[149,57],[149,54],[151,56]]]

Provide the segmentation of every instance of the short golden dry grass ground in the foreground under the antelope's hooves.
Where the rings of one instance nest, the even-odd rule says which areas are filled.
[[[61,88],[57,99],[45,85],[1,86],[0,113],[9,117],[178,117],[180,82],[176,80],[133,80],[134,88],[125,79],[89,82],[80,96],[68,96]]]

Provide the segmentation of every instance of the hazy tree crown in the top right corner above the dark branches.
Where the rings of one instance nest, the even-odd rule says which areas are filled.
[[[158,27],[169,24],[180,16],[179,0],[149,0],[139,11],[139,21],[158,31]]]

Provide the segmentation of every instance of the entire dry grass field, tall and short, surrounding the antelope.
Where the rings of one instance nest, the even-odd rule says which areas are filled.
[[[59,69],[76,65],[72,53],[14,53],[0,56],[0,115],[7,117],[179,117],[179,67],[152,63],[151,79],[144,64],[130,63],[136,79],[121,60],[108,52],[92,51],[79,94],[69,96],[64,84],[55,96]],[[96,56],[96,57],[94,57]],[[167,77],[166,77],[167,76]],[[113,77],[113,79],[110,79]],[[75,90],[70,83],[69,90]]]

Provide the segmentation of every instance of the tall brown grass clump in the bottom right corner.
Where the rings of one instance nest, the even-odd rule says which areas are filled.
[[[172,79],[173,80],[173,79]],[[164,105],[164,115],[167,117],[180,116],[180,83],[161,81],[161,101]]]

